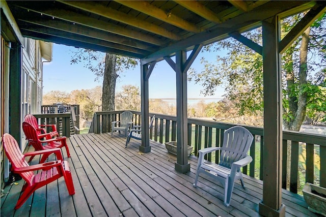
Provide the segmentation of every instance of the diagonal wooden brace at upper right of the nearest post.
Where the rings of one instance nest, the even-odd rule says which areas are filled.
[[[316,4],[310,11],[290,30],[280,42],[280,53],[283,53],[291,44],[305,32],[305,30],[326,10],[326,3]]]

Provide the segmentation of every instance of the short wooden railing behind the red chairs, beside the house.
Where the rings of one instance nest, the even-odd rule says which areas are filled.
[[[40,125],[56,125],[60,136],[70,137],[70,113],[33,114]]]

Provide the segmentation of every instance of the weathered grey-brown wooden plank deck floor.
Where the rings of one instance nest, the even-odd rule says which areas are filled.
[[[225,207],[220,183],[203,175],[199,187],[193,187],[196,157],[189,157],[191,172],[180,174],[174,170],[176,157],[164,145],[151,141],[151,152],[140,153],[140,141],[131,139],[125,148],[122,135],[70,137],[68,161],[75,195],[69,196],[60,178],[14,210],[23,185],[20,180],[5,188],[1,216],[259,216],[262,181],[244,176],[247,189],[237,182],[231,205]],[[282,197],[286,216],[318,216],[301,196],[283,190]]]

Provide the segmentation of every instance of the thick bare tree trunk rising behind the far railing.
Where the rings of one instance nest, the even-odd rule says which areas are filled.
[[[118,74],[116,72],[116,61],[117,56],[115,54],[105,54],[105,69],[103,75],[103,86],[102,86],[102,111],[114,111],[114,100],[116,92],[116,80]],[[106,119],[106,129],[111,131],[111,122],[114,121],[113,116],[109,116]]]

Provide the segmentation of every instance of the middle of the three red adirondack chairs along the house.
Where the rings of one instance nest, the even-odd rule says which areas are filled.
[[[24,131],[26,139],[35,148],[36,151],[46,150],[46,149],[51,149],[51,148],[66,147],[67,156],[68,156],[68,158],[70,157],[70,152],[69,152],[69,148],[68,148],[65,136],[40,140],[40,138],[37,135],[36,129],[28,122],[22,123],[22,130]],[[44,144],[44,143],[46,143],[46,144]],[[31,157],[30,161],[32,159],[33,159],[33,157]]]

